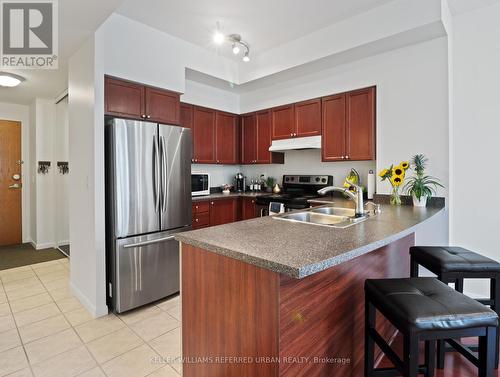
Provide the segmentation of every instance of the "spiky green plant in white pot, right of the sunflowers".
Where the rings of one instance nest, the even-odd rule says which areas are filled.
[[[444,187],[438,178],[425,175],[427,162],[428,159],[423,154],[413,156],[411,165],[415,176],[408,178],[404,186],[404,191],[412,196],[415,207],[425,207],[427,199],[436,194],[436,189]]]

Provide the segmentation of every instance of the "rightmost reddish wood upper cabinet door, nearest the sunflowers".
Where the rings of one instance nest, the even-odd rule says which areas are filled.
[[[346,158],[375,159],[375,88],[346,94]]]

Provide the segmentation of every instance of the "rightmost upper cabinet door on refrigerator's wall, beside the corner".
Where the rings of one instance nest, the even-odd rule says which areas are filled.
[[[238,116],[217,111],[215,115],[215,162],[238,164]]]

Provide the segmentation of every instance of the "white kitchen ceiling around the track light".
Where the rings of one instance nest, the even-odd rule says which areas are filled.
[[[117,13],[210,49],[219,21],[224,34],[241,34],[255,55],[391,1],[125,0]],[[229,46],[219,50],[232,55]]]

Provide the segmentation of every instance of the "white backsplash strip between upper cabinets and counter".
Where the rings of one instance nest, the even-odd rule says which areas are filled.
[[[242,172],[248,182],[264,174],[274,177],[280,184],[284,174],[325,174],[333,175],[335,185],[342,185],[351,168],[358,171],[361,184],[366,185],[368,171],[375,171],[375,161],[322,162],[321,150],[308,149],[285,152],[285,163],[282,165],[192,165],[193,172],[210,173],[212,187],[226,183],[233,185],[238,172]]]

